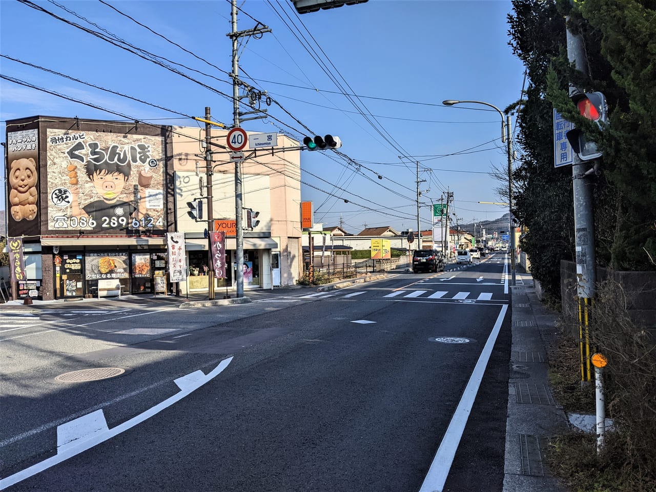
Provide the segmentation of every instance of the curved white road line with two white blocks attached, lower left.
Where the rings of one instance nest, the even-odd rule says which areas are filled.
[[[95,445],[111,439],[125,430],[133,428],[136,424],[140,424],[144,420],[150,419],[153,415],[170,407],[173,403],[182,400],[182,398],[188,396],[188,394],[194,392],[194,390],[197,390],[206,382],[214,379],[226,369],[226,367],[228,367],[228,364],[230,364],[231,361],[232,357],[223,359],[207,376],[203,371],[194,371],[193,373],[174,380],[175,384],[180,388],[179,392],[114,428],[110,429],[107,427],[107,422],[102,413],[102,409],[60,425],[57,428],[57,454],[33,464],[29,468],[25,468],[25,470],[16,472],[7,478],[0,479],[0,490],[4,490],[7,487],[10,487],[10,485],[14,485],[14,483],[18,483],[37,473],[43,472],[43,470],[47,470],[47,468],[50,468],[55,464],[65,461],[83,451],[87,451],[87,449],[91,449]],[[80,432],[82,429],[85,429],[85,431]]]

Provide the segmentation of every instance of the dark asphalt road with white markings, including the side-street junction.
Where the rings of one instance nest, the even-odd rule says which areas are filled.
[[[3,310],[0,486],[501,490],[504,259],[213,308]],[[110,367],[125,373],[55,379]]]

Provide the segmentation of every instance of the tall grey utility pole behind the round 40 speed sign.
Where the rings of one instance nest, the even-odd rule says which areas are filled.
[[[233,127],[239,127],[239,52],[237,51],[239,37],[237,33],[237,0],[232,0],[232,117]],[[241,226],[242,200],[241,200],[241,162],[235,161],[235,225],[236,232],[236,281],[237,297],[244,296],[244,232]]]

